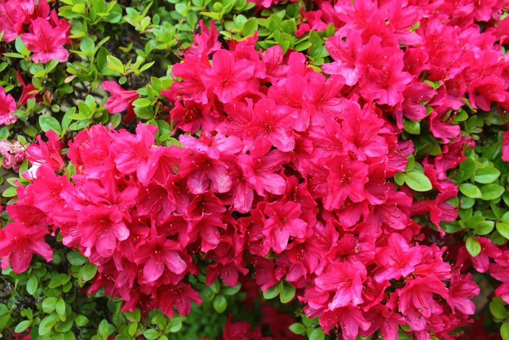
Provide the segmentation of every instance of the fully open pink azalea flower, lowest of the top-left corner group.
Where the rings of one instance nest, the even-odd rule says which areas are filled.
[[[34,63],[47,63],[50,60],[67,61],[69,51],[63,46],[66,43],[67,30],[63,27],[51,27],[51,24],[42,19],[35,19],[29,28],[30,33],[21,36],[26,48],[34,52]]]

